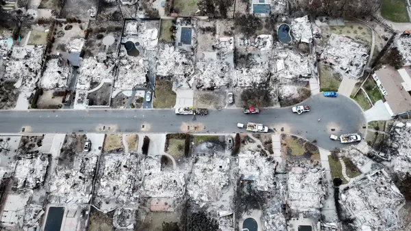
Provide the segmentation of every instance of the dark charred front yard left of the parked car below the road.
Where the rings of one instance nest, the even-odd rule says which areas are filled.
[[[86,143],[86,135],[66,135],[62,149],[60,150],[60,157],[58,158],[58,165],[69,165],[73,162],[74,156],[78,152],[82,152],[84,144]]]

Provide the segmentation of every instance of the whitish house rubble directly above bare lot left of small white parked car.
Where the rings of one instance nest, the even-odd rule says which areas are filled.
[[[201,60],[197,62],[196,70],[197,88],[228,87],[232,83],[231,68],[223,60],[212,60],[210,62]]]

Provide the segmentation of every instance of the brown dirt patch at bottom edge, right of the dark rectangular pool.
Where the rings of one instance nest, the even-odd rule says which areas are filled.
[[[113,230],[114,212],[101,213],[91,208],[87,231],[111,231]]]

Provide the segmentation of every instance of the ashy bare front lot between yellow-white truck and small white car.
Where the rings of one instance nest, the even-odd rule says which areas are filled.
[[[219,108],[225,107],[226,103],[226,93],[225,92],[205,92],[205,91],[195,91],[194,92],[194,106],[201,108]]]

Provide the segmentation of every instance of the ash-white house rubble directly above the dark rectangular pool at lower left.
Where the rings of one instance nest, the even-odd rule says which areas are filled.
[[[48,185],[49,202],[86,204],[90,201],[98,157],[84,154],[73,159],[72,165],[55,167]]]

